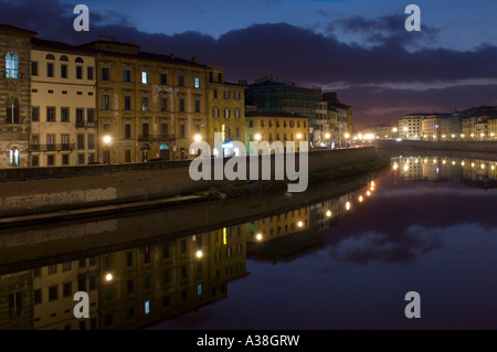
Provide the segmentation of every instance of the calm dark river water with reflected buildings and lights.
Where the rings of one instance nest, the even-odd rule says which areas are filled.
[[[0,328],[496,329],[496,169],[402,156],[329,200],[136,247],[7,265]],[[74,317],[76,291],[88,294],[88,319]]]

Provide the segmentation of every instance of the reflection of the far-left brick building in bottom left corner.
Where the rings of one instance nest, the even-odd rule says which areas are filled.
[[[0,329],[33,328],[31,271],[0,276]]]

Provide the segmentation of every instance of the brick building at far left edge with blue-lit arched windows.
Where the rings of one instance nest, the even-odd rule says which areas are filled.
[[[0,25],[0,168],[28,167],[30,42],[35,34]]]

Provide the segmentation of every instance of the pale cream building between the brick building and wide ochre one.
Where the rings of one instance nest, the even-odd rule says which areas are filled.
[[[30,167],[96,162],[95,58],[32,39]]]

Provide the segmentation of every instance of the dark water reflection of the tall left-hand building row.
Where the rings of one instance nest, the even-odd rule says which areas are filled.
[[[0,276],[0,329],[138,329],[219,301],[246,275],[245,225]],[[76,291],[89,319],[76,319]]]

